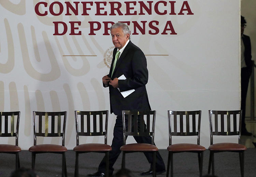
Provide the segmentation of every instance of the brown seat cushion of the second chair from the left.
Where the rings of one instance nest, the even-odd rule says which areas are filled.
[[[28,151],[30,152],[66,152],[68,149],[65,146],[57,144],[39,144],[31,146]]]

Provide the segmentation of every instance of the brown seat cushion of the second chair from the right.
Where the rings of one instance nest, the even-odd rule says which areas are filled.
[[[179,143],[168,146],[167,150],[172,152],[205,151],[205,147],[198,144]]]

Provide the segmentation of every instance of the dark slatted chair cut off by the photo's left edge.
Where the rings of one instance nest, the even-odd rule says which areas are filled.
[[[20,117],[20,111],[0,112],[0,137],[15,137],[15,145],[0,144],[0,153],[8,153],[8,154],[16,155],[16,163],[15,163],[16,170],[20,167],[19,152],[21,151],[20,147],[18,146],[19,117]],[[4,122],[4,126],[3,126],[4,132],[2,132],[3,122]],[[9,126],[9,124],[11,126]]]

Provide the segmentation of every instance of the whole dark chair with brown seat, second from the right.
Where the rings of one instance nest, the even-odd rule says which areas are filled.
[[[201,124],[201,110],[197,111],[167,111],[168,125],[169,125],[169,146],[167,147],[168,163],[166,177],[169,176],[171,167],[171,177],[173,177],[173,154],[182,152],[191,152],[198,154],[199,176],[202,176],[203,169],[203,152],[205,147],[200,145],[200,124]],[[183,118],[183,116],[185,118]],[[183,121],[185,119],[185,124]],[[198,119],[198,120],[197,120]],[[172,131],[173,122],[173,131]],[[179,124],[178,124],[179,122]],[[196,126],[196,123],[198,124]],[[178,131],[178,127],[180,127]],[[196,128],[197,127],[197,128]],[[197,144],[178,143],[172,144],[172,136],[197,136]]]

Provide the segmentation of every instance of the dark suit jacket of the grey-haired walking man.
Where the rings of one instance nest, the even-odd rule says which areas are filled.
[[[109,77],[112,73],[116,52],[117,48],[113,51]],[[122,110],[151,110],[145,86],[148,81],[146,57],[141,49],[135,46],[131,41],[129,41],[117,60],[111,79],[115,77],[118,78],[123,74],[126,79],[118,80],[120,91],[131,89],[135,89],[135,91],[124,98],[117,88],[103,84],[104,87],[109,87],[110,112],[114,112],[115,115],[120,116],[122,115]]]

